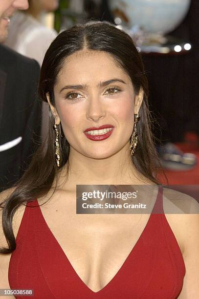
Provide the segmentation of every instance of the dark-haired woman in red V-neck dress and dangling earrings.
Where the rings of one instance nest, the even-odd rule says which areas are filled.
[[[164,215],[131,37],[100,21],[62,32],[45,54],[39,93],[52,112],[48,140],[1,196],[0,288],[34,289],[34,298],[198,298],[199,217]],[[96,132],[104,125],[109,132]],[[161,213],[76,214],[76,185],[108,184],[152,187],[146,201]]]

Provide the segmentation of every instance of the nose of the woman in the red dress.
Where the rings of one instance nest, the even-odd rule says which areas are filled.
[[[100,103],[98,97],[93,97],[90,99],[86,116],[88,119],[93,120],[94,122],[97,122],[100,118],[106,116],[106,109],[104,105]]]

